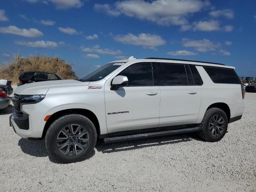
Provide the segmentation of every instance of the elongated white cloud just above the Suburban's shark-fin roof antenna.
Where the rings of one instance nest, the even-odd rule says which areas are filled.
[[[159,35],[141,33],[138,36],[128,33],[127,35],[116,35],[114,40],[130,45],[143,46],[144,48],[154,49],[156,46],[164,45],[166,42]]]

